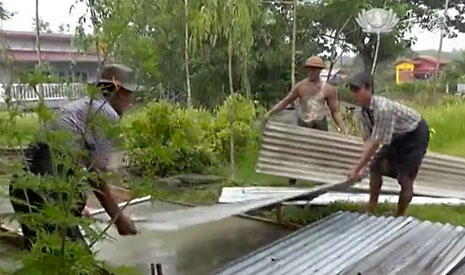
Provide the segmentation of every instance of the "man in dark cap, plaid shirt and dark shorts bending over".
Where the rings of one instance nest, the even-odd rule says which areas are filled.
[[[349,171],[349,180],[359,180],[370,164],[370,202],[377,204],[383,176],[396,178],[401,186],[397,216],[405,215],[413,196],[417,176],[429,143],[429,127],[420,114],[400,103],[373,95],[372,78],[362,72],[348,81],[354,99],[361,106],[358,120],[365,142],[357,165]],[[383,145],[376,152],[378,147]]]

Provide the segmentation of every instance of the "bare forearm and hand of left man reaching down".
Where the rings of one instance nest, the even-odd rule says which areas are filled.
[[[124,215],[118,204],[116,203],[113,195],[111,194],[108,185],[101,179],[98,182],[89,180],[89,184],[94,189],[94,194],[99,200],[100,204],[105,208],[105,211],[115,221],[116,228],[121,235],[134,235],[137,233],[134,223]]]

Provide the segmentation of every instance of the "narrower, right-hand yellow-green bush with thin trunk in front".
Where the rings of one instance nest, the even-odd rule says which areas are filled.
[[[243,153],[252,141],[257,140],[256,112],[252,101],[242,95],[229,96],[216,110],[213,126],[213,150],[222,160],[229,160],[231,131],[235,154]]]

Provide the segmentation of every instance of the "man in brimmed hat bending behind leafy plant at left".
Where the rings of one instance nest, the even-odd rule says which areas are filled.
[[[92,125],[92,119],[98,116],[104,118],[109,123],[118,123],[120,116],[129,107],[131,94],[135,91],[135,86],[129,83],[131,70],[123,65],[107,65],[103,68],[100,80],[94,85],[102,91],[102,96],[96,99],[84,98],[73,101],[65,105],[52,123],[52,131],[70,133],[72,140],[69,141],[69,148],[72,151],[85,151],[85,157],[76,160],[74,167],[82,167],[94,171],[97,175],[107,170],[110,160],[112,141],[100,125]],[[53,149],[55,150],[55,148]],[[52,163],[52,151],[46,142],[35,142],[26,150],[25,171],[46,176],[60,171],[59,167],[54,167]],[[58,149],[57,149],[58,150]],[[74,159],[74,158],[73,158]],[[62,172],[59,172],[63,174]],[[68,177],[72,177],[74,172],[65,171]],[[115,199],[110,193],[108,185],[99,177],[97,180],[88,181],[94,189],[94,193],[109,216],[115,220],[115,225],[121,235],[136,234],[133,222],[121,213]],[[54,194],[44,198],[43,194],[38,194],[31,189],[15,187],[15,178],[10,185],[11,203],[15,212],[29,213],[41,211],[44,199],[49,202],[57,200],[60,194]],[[48,196],[48,195],[47,195]],[[66,196],[66,194],[61,194]],[[82,210],[86,204],[86,194],[80,191],[80,200],[72,207],[72,215],[81,217]],[[30,206],[33,207],[30,207]],[[27,240],[26,247],[31,248],[37,237],[34,229],[22,224],[22,231]],[[44,230],[53,232],[59,230],[54,225],[45,225]],[[67,229],[68,237],[73,241],[83,242],[77,226]]]

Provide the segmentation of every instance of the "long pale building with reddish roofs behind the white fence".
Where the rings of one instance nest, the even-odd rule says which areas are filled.
[[[38,63],[34,32],[1,31],[3,47],[20,71],[33,70]],[[95,53],[84,53],[73,45],[70,34],[44,33],[40,36],[41,59],[52,67],[52,74],[72,82],[95,79],[98,58]],[[0,82],[18,83],[17,75],[10,75],[0,67]]]

